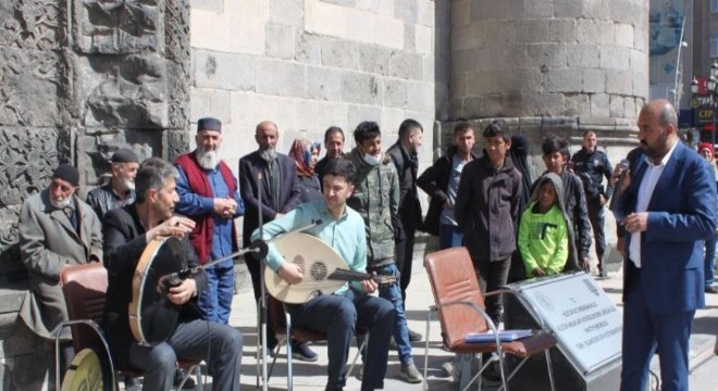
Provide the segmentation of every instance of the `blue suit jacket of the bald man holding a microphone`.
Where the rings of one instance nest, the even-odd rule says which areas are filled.
[[[631,186],[621,194],[624,215],[635,211],[639,187],[648,163],[640,156],[631,169]],[[705,305],[703,241],[716,229],[716,180],[713,168],[679,142],[648,203],[648,227],[641,234],[641,285],[648,311],[670,314]],[[631,245],[627,235],[626,251]],[[628,257],[624,262],[631,262]],[[624,265],[624,274],[631,270]],[[623,276],[623,292],[631,276]]]

